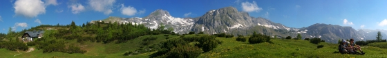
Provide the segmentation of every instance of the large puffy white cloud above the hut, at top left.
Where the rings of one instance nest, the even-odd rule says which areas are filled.
[[[17,0],[14,3],[15,14],[28,18],[46,13],[46,6],[41,0]]]

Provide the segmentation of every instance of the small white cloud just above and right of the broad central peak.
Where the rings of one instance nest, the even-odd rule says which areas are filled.
[[[259,12],[262,10],[262,8],[259,8],[258,5],[256,5],[255,1],[253,1],[253,3],[249,3],[247,1],[243,2],[242,8],[245,12]]]

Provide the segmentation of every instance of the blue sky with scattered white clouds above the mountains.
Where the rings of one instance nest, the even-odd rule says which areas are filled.
[[[316,23],[354,29],[387,29],[387,0],[0,0],[0,33],[38,25],[76,25],[109,16],[145,17],[167,10],[171,16],[200,17],[232,6],[287,27]]]

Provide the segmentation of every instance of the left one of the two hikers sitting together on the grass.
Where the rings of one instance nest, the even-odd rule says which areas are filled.
[[[350,44],[349,42],[347,42],[346,40],[343,40],[343,42],[339,45],[339,52],[340,53],[352,53],[352,48],[350,46],[348,46],[348,44]]]

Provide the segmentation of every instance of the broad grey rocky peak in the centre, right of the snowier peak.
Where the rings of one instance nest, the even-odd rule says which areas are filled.
[[[198,18],[191,31],[215,34],[227,33],[232,29],[246,29],[262,25],[272,29],[290,29],[279,23],[273,23],[265,18],[254,18],[247,12],[238,12],[236,8],[227,7],[210,10]]]

